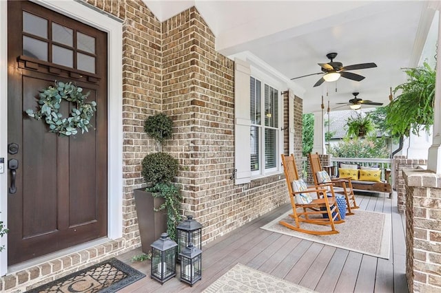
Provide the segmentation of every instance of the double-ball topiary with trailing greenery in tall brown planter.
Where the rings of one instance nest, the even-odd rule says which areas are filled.
[[[150,244],[167,231],[176,239],[176,225],[181,221],[181,192],[173,182],[178,173],[178,160],[162,151],[162,144],[172,136],[172,119],[164,113],[158,113],[145,120],[144,130],[156,140],[158,152],[145,156],[141,163],[141,175],[146,188],[134,190],[139,234],[144,253],[150,250]]]

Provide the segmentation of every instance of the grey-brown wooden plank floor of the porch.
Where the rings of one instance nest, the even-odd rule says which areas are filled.
[[[260,229],[282,215],[285,205],[203,247],[202,280],[189,287],[178,277],[163,285],[150,279],[150,261],[131,263],[132,255],[119,259],[144,272],[147,277],[120,292],[201,292],[236,263],[308,287],[317,292],[397,292],[407,290],[404,216],[398,213],[396,195],[384,193],[357,195],[363,210],[392,214],[391,257],[380,259],[320,243]]]

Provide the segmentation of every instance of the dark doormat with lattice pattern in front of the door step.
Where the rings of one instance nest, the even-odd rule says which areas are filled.
[[[96,265],[92,265],[78,272],[63,276],[40,287],[27,291],[28,293],[78,293],[78,292],[116,292],[121,288],[138,281],[145,276],[142,272],[135,270],[119,261],[108,259]]]

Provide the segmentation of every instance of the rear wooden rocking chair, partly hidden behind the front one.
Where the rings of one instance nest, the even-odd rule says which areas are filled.
[[[318,171],[323,171],[320,158],[318,153],[309,153],[309,164],[311,166],[312,177],[314,178],[314,184],[320,186],[322,183],[319,182],[317,177]],[[334,184],[334,192],[339,195],[344,195],[347,205],[346,215],[353,215],[353,209],[359,208],[356,203],[356,197],[353,194],[351,178],[330,178],[331,182]]]

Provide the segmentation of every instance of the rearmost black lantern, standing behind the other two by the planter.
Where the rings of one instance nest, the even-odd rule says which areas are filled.
[[[179,253],[188,246],[189,243],[193,243],[194,246],[202,250],[202,225],[192,215],[188,215],[187,219],[181,221],[176,227],[176,234],[178,239],[178,259],[181,257]]]

